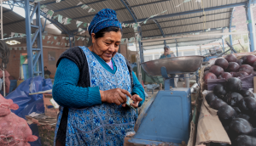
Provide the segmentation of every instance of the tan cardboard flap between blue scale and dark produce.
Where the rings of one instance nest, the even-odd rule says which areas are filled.
[[[204,91],[203,101],[201,104],[201,111],[198,119],[196,144],[206,143],[230,143],[230,138],[227,132],[224,130],[221,122],[218,119],[217,111],[210,108],[205,99],[207,93],[210,91]]]

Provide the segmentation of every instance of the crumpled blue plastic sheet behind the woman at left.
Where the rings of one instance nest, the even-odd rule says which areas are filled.
[[[12,110],[15,115],[25,119],[25,115],[30,115],[32,112],[38,114],[44,113],[44,100],[42,94],[29,95],[29,93],[38,93],[40,91],[52,89],[52,82],[50,79],[44,79],[41,76],[29,78],[23,81],[19,87],[12,93],[9,93],[5,98],[12,99],[15,104],[19,105],[19,110]],[[32,146],[41,146],[38,134],[38,126],[30,125],[32,134],[38,136],[38,140],[32,142]]]

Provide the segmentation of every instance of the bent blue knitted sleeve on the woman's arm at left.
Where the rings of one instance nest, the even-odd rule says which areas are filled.
[[[70,59],[61,59],[55,74],[53,98],[63,107],[85,108],[102,104],[99,87],[78,87],[79,67]]]

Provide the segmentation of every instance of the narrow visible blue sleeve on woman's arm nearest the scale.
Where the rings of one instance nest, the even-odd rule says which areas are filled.
[[[132,87],[132,95],[137,94],[140,96],[140,98],[143,98],[143,101],[140,102],[139,107],[143,105],[145,101],[145,93],[143,85],[140,83],[140,81],[137,80],[137,76],[132,71],[132,77],[133,77],[133,87]]]

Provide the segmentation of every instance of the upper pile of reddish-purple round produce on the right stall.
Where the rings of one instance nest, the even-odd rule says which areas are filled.
[[[224,59],[216,59],[215,64],[205,68],[203,80],[225,79],[255,74],[256,56],[247,55],[237,59],[234,54],[227,55]]]

